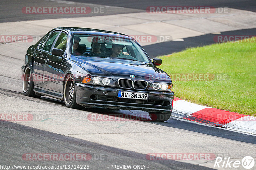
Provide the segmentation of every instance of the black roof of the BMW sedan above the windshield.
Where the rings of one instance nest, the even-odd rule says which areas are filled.
[[[133,39],[132,37],[125,35],[125,34],[121,34],[118,32],[112,32],[112,31],[106,31],[106,30],[98,30],[98,29],[92,29],[92,28],[80,28],[80,27],[57,27],[54,29],[62,29],[62,30],[66,30],[70,33],[77,33],[77,34],[83,34],[83,33],[87,33],[87,34],[94,34],[94,35],[108,35],[108,36],[121,36],[121,37],[126,37],[126,38],[130,38]]]

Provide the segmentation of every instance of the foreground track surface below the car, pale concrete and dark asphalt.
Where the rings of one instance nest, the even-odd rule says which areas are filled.
[[[24,153],[90,153],[95,160],[86,161],[86,164],[89,164],[92,169],[108,169],[107,167],[112,164],[143,164],[148,167],[147,169],[206,169],[206,167],[193,165],[194,163],[189,164],[186,161],[182,163],[169,160],[149,161],[146,159],[146,153],[150,150],[164,152],[164,148],[168,148],[169,152],[176,151],[171,153],[183,153],[188,150],[191,152],[190,144],[192,144],[194,147],[192,153],[206,149],[215,155],[231,157],[237,154],[254,154],[252,153],[253,149],[251,153],[243,149],[255,147],[255,145],[251,145],[256,144],[255,136],[252,135],[194,124],[176,118],[170,118],[163,123],[133,120],[90,121],[88,119],[90,114],[122,113],[130,115],[131,112],[102,109],[74,110],[66,108],[63,102],[55,99],[46,97],[34,99],[24,96],[20,92],[4,89],[0,92],[1,99],[6,99],[4,102],[1,100],[1,106],[4,106],[4,109],[1,109],[3,113],[37,115],[44,113],[49,116],[47,120],[43,121],[16,121],[15,123],[0,121],[1,165],[42,165],[47,163],[57,166],[60,164],[59,161],[24,161],[21,159]],[[135,110],[132,112],[136,113]],[[127,138],[130,138],[131,141],[127,141]],[[101,145],[104,143],[107,146]],[[227,144],[229,146],[225,146]],[[144,154],[135,152],[137,149]],[[143,151],[144,149],[146,150]],[[99,159],[99,155],[101,155],[101,159]],[[65,161],[65,164],[80,164],[80,162]]]

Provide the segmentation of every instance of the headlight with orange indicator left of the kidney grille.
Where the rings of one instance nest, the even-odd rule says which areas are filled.
[[[84,77],[82,83],[116,87],[116,84],[112,79],[103,77],[86,76]]]

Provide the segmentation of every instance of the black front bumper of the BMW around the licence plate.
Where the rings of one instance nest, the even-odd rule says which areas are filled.
[[[148,93],[148,100],[117,98],[118,91]],[[124,90],[115,87],[97,87],[76,83],[76,103],[86,108],[102,107],[148,112],[171,112],[173,98],[173,92]]]

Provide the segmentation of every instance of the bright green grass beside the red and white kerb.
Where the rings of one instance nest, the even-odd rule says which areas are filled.
[[[163,60],[159,68],[168,74],[228,75],[224,80],[173,80],[176,97],[256,116],[256,43],[213,44],[159,58]]]

